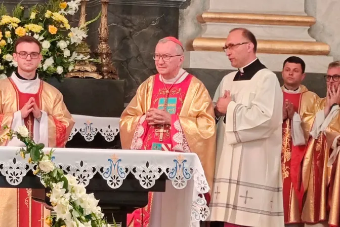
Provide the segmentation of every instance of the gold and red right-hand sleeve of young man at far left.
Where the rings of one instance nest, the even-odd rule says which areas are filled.
[[[46,110],[48,114],[49,147],[65,147],[74,120],[66,108],[63,95],[44,82],[41,99],[41,109]]]

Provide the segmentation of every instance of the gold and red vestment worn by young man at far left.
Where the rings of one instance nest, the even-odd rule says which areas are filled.
[[[32,92],[32,89],[34,92]],[[62,94],[56,88],[38,78],[34,81],[22,81],[12,75],[11,78],[1,81],[0,136],[3,137],[8,132],[8,129],[5,130],[3,126],[7,125],[11,128],[13,124],[16,124],[16,112],[31,97],[34,97],[39,109],[46,112],[46,116],[44,117],[43,113],[39,123],[34,119],[32,113],[24,119],[23,123],[29,130],[31,137],[35,142],[44,143],[46,147],[64,147],[74,121],[63,102]],[[39,127],[37,127],[38,124]],[[44,135],[45,138],[43,138]],[[0,145],[24,146],[23,143],[13,144],[13,142],[16,142],[15,139],[12,141],[5,140]],[[13,154],[14,157],[15,154]],[[29,188],[0,188],[0,195],[0,226],[47,226],[45,217],[50,215],[50,211],[32,200]]]

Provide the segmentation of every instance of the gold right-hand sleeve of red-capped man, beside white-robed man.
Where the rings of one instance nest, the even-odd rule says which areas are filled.
[[[215,113],[208,91],[196,78],[189,85],[179,120],[190,151],[198,155],[212,190],[216,161]]]

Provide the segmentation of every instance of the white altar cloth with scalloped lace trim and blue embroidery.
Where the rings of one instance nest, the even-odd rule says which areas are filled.
[[[0,147],[0,173],[11,185],[19,185],[28,171],[36,165],[29,164],[16,155],[18,147]],[[132,173],[144,188],[151,188],[164,173],[172,185],[182,190],[189,180],[194,180],[190,226],[210,215],[203,196],[209,191],[203,167],[194,153],[162,152],[155,150],[79,149],[54,148],[53,162],[66,173],[74,175],[78,183],[89,185],[99,173],[111,188],[118,188]],[[46,153],[50,148],[44,149]],[[94,158],[95,157],[95,158]]]

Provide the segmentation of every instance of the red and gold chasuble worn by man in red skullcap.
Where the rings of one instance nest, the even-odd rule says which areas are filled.
[[[148,125],[145,114],[152,107],[172,113],[171,125]],[[120,136],[123,149],[196,153],[212,188],[216,154],[214,108],[205,86],[193,75],[187,74],[169,90],[159,74],[149,77],[121,115]],[[150,193],[144,210],[138,209],[128,217],[129,226],[148,226],[152,198]]]

